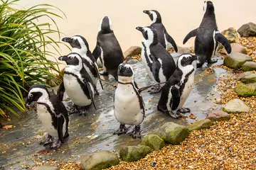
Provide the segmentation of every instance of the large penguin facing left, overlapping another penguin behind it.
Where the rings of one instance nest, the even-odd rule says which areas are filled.
[[[165,82],[171,77],[176,69],[173,57],[159,43],[156,30],[152,27],[137,27],[142,32],[142,63],[146,67],[149,77],[155,82]],[[161,86],[151,89],[150,93],[158,93]]]

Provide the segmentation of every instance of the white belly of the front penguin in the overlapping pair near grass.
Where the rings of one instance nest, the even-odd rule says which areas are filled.
[[[71,99],[71,101],[73,101],[73,103],[75,103],[75,105],[89,106],[92,103],[92,101],[87,98],[84,91],[82,91],[82,88],[78,83],[76,77],[73,77],[73,75],[70,74],[64,74],[63,82],[65,86],[65,91],[67,91],[69,98]],[[92,91],[92,94],[93,93],[94,91]]]

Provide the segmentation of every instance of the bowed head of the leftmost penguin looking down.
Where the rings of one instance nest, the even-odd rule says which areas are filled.
[[[42,84],[34,84],[28,89],[26,107],[30,106],[33,101],[39,101],[40,99],[47,100],[48,98],[49,93],[46,86],[43,86]]]

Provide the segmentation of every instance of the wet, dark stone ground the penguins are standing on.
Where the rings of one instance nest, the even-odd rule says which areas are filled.
[[[216,64],[223,64],[220,60]],[[147,76],[141,62],[132,65],[135,72],[135,81],[139,87],[151,84],[151,79]],[[220,74],[225,74],[225,69],[214,69],[215,72],[200,77],[202,69],[198,69],[195,75],[195,84],[184,107],[191,108],[191,113],[196,115],[197,120],[206,118],[212,108],[220,108],[213,103],[214,98],[218,98],[216,83]],[[110,81],[114,79],[110,77]],[[124,145],[137,145],[140,140],[133,140],[129,135],[113,135],[113,132],[119,128],[119,123],[114,118],[113,113],[113,94],[114,89],[104,84],[105,90],[100,86],[100,96],[95,97],[97,111],[92,107],[90,113],[85,116],[70,115],[70,128],[68,140],[55,152],[49,151],[48,154],[38,155],[41,160],[56,159],[60,161],[80,162],[80,154],[95,152],[98,149],[116,150]],[[215,94],[213,96],[213,94]],[[182,125],[193,123],[195,120],[190,118],[181,118],[175,120],[165,113],[156,110],[159,101],[159,94],[149,94],[146,91],[142,93],[146,106],[146,118],[142,123],[142,135],[152,132],[166,122],[174,122]],[[186,114],[188,116],[189,114]],[[39,145],[43,140],[42,133],[45,132],[35,112],[28,113],[22,120],[12,119],[12,125],[15,128],[9,130],[0,130],[0,167],[12,167],[21,169],[26,164],[33,164],[34,154],[46,149]],[[131,131],[130,128],[129,131]],[[74,155],[75,157],[71,156]]]

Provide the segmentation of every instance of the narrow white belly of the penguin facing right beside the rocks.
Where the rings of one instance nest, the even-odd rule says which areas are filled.
[[[182,106],[184,105],[186,99],[188,98],[188,96],[191,92],[193,82],[194,82],[194,72],[188,77],[188,81],[186,82],[185,87],[183,89],[183,92],[181,95],[181,101],[180,101],[177,109],[182,108]]]

